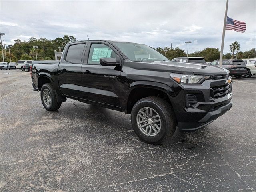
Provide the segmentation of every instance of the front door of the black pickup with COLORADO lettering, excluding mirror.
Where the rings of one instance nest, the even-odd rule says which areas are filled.
[[[116,58],[121,63],[121,56],[111,44],[91,41],[86,48],[82,64],[82,96],[84,100],[118,108],[122,66],[102,66],[102,57]]]

